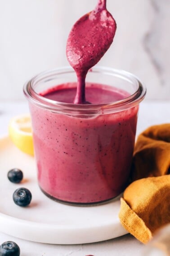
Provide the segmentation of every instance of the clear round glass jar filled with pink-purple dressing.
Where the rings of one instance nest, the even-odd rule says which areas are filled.
[[[75,81],[74,70],[66,67],[41,73],[24,85],[38,182],[45,195],[63,203],[103,203],[129,183],[139,102],[146,88],[128,72],[94,67],[87,86],[107,84],[128,96],[105,104],[73,104],[40,95]]]

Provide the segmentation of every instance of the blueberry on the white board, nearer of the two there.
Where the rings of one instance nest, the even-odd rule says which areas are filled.
[[[13,201],[16,205],[19,206],[27,206],[31,202],[31,192],[24,187],[18,188],[16,191],[13,193]]]

